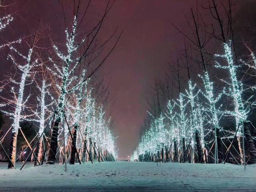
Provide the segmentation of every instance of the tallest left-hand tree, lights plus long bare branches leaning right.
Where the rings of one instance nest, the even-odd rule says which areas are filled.
[[[88,4],[88,6],[89,6],[89,4]],[[98,70],[98,68],[100,68],[100,66],[104,63],[104,61],[109,56],[109,54],[112,52],[112,50],[114,50],[114,47],[116,46],[116,44],[118,42],[118,40],[117,40],[116,43],[114,44],[114,46],[112,47],[112,49],[110,50],[110,52],[108,52],[108,54],[106,54],[106,57],[104,57],[102,59],[100,64],[94,70],[92,70],[92,73],[90,75],[88,75],[86,78],[84,78],[82,81],[80,81],[80,83],[76,82],[76,78],[77,78],[75,76],[75,74],[77,72],[76,70],[78,69],[78,66],[81,65],[82,60],[86,59],[86,56],[94,54],[94,52],[96,50],[101,50],[104,47],[104,45],[115,34],[115,32],[114,32],[114,34],[112,36],[110,36],[110,38],[106,42],[99,45],[98,47],[95,47],[93,45],[94,42],[96,41],[95,38],[98,35],[98,32],[100,31],[100,28],[102,26],[104,18],[106,17],[106,14],[112,7],[112,5],[109,5],[109,4],[110,4],[110,2],[108,2],[105,12],[104,12],[101,20],[98,22],[98,24],[96,24],[96,26],[92,30],[90,30],[90,32],[87,33],[87,36],[85,38],[83,38],[82,40],[80,40],[79,43],[75,42],[75,38],[77,37],[76,30],[78,28],[77,18],[78,18],[79,8],[77,8],[75,11],[74,21],[72,23],[72,29],[70,30],[70,32],[68,29],[66,29],[66,31],[65,31],[66,32],[66,54],[64,52],[60,51],[56,45],[53,45],[55,53],[58,56],[58,58],[60,59],[60,66],[58,66],[58,64],[56,64],[56,62],[54,62],[50,58],[50,61],[52,61],[52,64],[53,64],[53,69],[48,68],[48,70],[50,70],[52,72],[52,74],[54,74],[54,76],[56,76],[56,79],[58,79],[57,80],[57,82],[58,82],[57,88],[60,92],[60,95],[58,98],[57,109],[56,109],[56,118],[54,121],[54,125],[52,128],[52,135],[51,135],[51,139],[50,139],[50,150],[49,150],[48,160],[47,160],[48,164],[54,164],[54,161],[55,161],[56,150],[57,150],[57,146],[58,146],[59,124],[61,122],[62,113],[64,111],[66,102],[68,101],[70,94],[72,94],[77,88],[82,86],[86,82],[86,80],[88,80],[94,74],[94,72],[96,72],[96,70]],[[86,9],[86,11],[87,11],[87,9]],[[80,22],[82,22],[82,20]],[[121,36],[121,34],[120,34],[120,36]],[[120,38],[120,36],[118,37],[118,39]],[[85,45],[84,51],[82,54],[80,54],[80,56],[77,56],[78,55],[77,50],[78,50],[78,48],[82,47],[82,45]],[[96,45],[98,45],[98,44],[96,44]],[[93,58],[92,60],[94,60],[94,59],[95,58]],[[63,65],[62,65],[62,63],[63,63]]]

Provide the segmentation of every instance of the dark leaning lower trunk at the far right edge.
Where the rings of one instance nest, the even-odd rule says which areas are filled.
[[[256,150],[255,150],[255,145],[250,133],[250,128],[252,128],[252,124],[251,122],[244,122],[244,135],[246,137],[247,140],[247,144],[248,144],[248,149],[250,152],[250,162],[252,164],[256,163]]]

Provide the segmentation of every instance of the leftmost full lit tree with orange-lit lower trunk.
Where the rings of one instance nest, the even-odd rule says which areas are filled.
[[[35,35],[36,38],[36,35]],[[10,59],[13,64],[20,70],[21,76],[20,78],[14,80],[10,79],[11,82],[16,85],[15,87],[11,87],[11,92],[13,93],[12,98],[5,99],[6,102],[2,103],[1,106],[9,106],[14,108],[13,112],[8,112],[2,110],[5,114],[11,116],[13,118],[12,123],[12,141],[10,145],[10,159],[12,163],[8,164],[8,168],[14,168],[16,162],[16,143],[17,143],[17,134],[18,129],[20,128],[20,122],[24,119],[29,120],[32,116],[34,116],[34,112],[31,112],[30,107],[27,105],[27,102],[30,98],[30,94],[25,96],[25,88],[28,84],[30,84],[30,80],[32,80],[32,76],[34,72],[32,68],[39,66],[38,60],[32,59],[34,42],[31,48],[28,50],[28,55],[24,56],[21,54],[16,48],[9,45],[10,50],[13,51],[14,54],[17,54],[19,59],[22,59],[22,62],[16,62],[16,59],[13,55],[9,54],[8,59]],[[30,113],[28,112],[30,111]]]

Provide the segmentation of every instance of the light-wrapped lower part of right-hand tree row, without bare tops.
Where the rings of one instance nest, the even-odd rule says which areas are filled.
[[[256,162],[255,146],[248,128],[248,126],[250,127],[248,115],[256,105],[255,86],[245,85],[238,78],[241,72],[239,68],[242,68],[243,65],[254,69],[255,73],[254,54],[251,54],[248,60],[241,60],[239,65],[235,65],[231,43],[229,41],[224,44],[223,55],[215,55],[216,60],[222,58],[220,61],[216,61],[215,67],[226,70],[225,74],[228,76],[221,81],[226,82],[227,86],[221,91],[216,91],[207,70],[200,75],[201,87],[197,87],[189,80],[188,90],[180,92],[178,99],[169,100],[166,111],[151,120],[149,129],[141,137],[138,148],[134,151],[134,159],[150,161],[154,156],[154,158],[170,160],[172,156],[174,162],[187,162],[186,157],[190,156],[192,158],[190,162],[193,162],[196,156],[198,162],[202,162],[205,158],[203,157],[204,151],[208,150],[209,153],[210,150],[206,146],[212,145],[215,147],[213,153],[215,162],[223,162],[222,139],[237,137],[240,160],[243,163],[242,145],[244,142],[242,138],[246,131],[245,139],[249,145],[250,162]],[[251,94],[248,95],[248,92]],[[222,105],[226,102],[232,107],[223,107]],[[168,121],[165,121],[164,118],[167,118]],[[220,126],[221,118],[234,118],[235,130],[224,130]],[[224,134],[224,136],[221,134],[222,138],[221,132]],[[210,134],[214,134],[214,137],[209,138]],[[208,142],[206,142],[206,138],[209,138]],[[178,160],[178,148],[180,148],[180,160]],[[194,154],[195,152],[196,154]]]

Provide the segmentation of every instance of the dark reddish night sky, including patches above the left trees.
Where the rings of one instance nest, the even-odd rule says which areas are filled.
[[[71,17],[74,1],[64,2],[65,12]],[[106,2],[92,0],[90,14],[94,14],[94,10],[100,13]],[[97,76],[105,82],[111,80],[109,91],[114,99],[108,107],[111,105],[115,119],[118,157],[129,156],[137,146],[140,125],[147,115],[145,97],[150,86],[156,77],[164,76],[171,58],[183,48],[184,36],[170,22],[188,31],[185,15],[188,16],[190,8],[195,5],[195,0],[116,0],[109,12],[100,36],[107,38],[117,26],[118,32],[123,30],[123,34]],[[52,34],[58,36],[56,38],[64,39],[62,27],[55,15],[62,18],[57,0],[28,0],[14,16],[8,38],[26,36],[41,19],[50,26]]]

